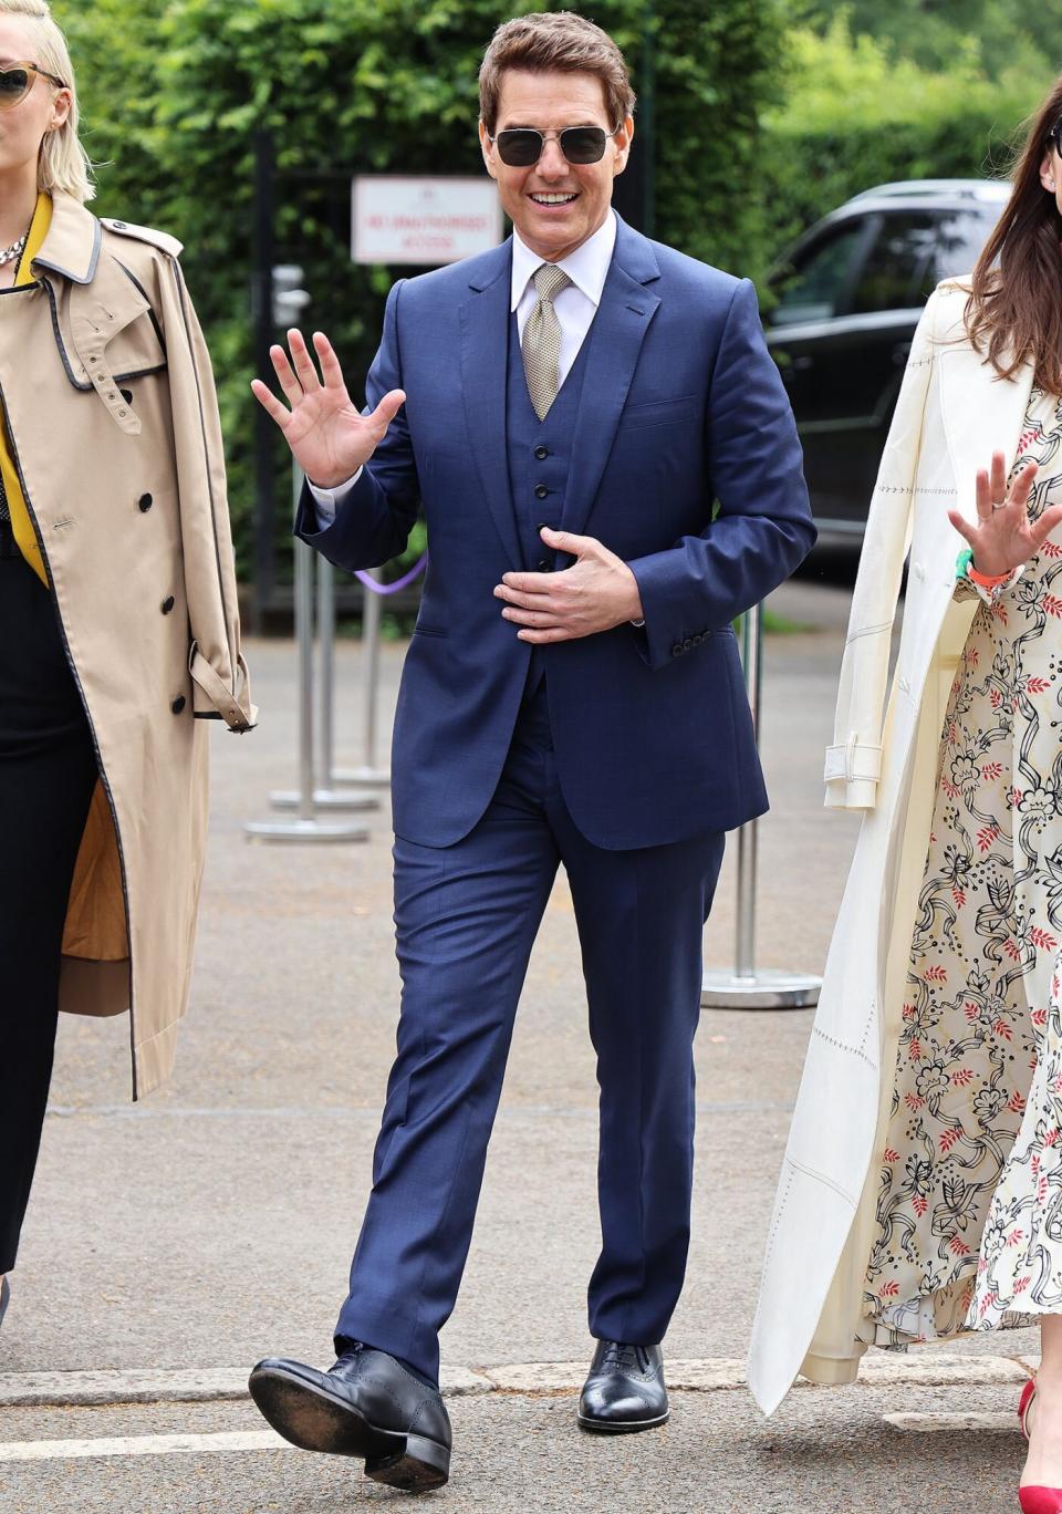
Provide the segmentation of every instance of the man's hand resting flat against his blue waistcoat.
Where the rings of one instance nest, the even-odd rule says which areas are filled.
[[[507,572],[498,584],[495,595],[505,600],[502,616],[522,627],[519,640],[569,642],[643,618],[637,578],[622,557],[593,536],[548,525],[540,534],[551,551],[567,553],[575,562],[564,572]]]

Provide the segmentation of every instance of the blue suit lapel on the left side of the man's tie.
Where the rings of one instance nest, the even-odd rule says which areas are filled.
[[[513,568],[522,568],[508,481],[505,385],[511,297],[511,242],[477,260],[460,309],[461,397],[480,483]]]

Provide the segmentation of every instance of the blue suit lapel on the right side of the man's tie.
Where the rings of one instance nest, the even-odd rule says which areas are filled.
[[[616,251],[587,333],[587,363],[572,439],[561,528],[582,531],[613,450],[649,322],[660,306],[646,285],[660,279],[652,244],[619,220]]]

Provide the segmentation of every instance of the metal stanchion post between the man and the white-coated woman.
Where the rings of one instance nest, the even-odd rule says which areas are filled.
[[[741,621],[744,683],[752,724],[759,733],[762,616],[753,606]],[[708,1010],[805,1010],[818,1004],[821,978],[773,967],[756,969],[758,822],[738,831],[737,949],[734,972],[713,967],[703,977],[700,1004]]]

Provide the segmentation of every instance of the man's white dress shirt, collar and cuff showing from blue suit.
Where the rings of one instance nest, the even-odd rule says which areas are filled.
[[[613,262],[613,253],[616,250],[616,213],[608,212],[602,226],[588,236],[581,247],[576,247],[573,253],[567,257],[561,257],[557,263],[563,268],[567,277],[572,280],[566,285],[560,294],[554,298],[554,310],[557,312],[557,319],[561,329],[561,351],[560,351],[560,382],[564,383],[572,371],[575,359],[579,356],[579,348],[585,341],[585,335],[593,324],[593,318],[598,313],[598,306],[601,304],[601,294],[605,288],[605,279],[608,277],[608,269]],[[536,307],[539,295],[536,294],[533,277],[539,268],[542,268],[543,259],[520,239],[519,232],[513,232],[513,286],[510,292],[510,310],[516,310],[516,330],[523,345],[523,329],[528,324],[528,316]],[[318,521],[321,525],[331,525],[336,519],[336,510],[343,503],[343,498],[354,488],[362,469],[348,478],[346,483],[339,484],[337,489],[319,489],[315,483],[310,484],[310,494],[318,507]]]

